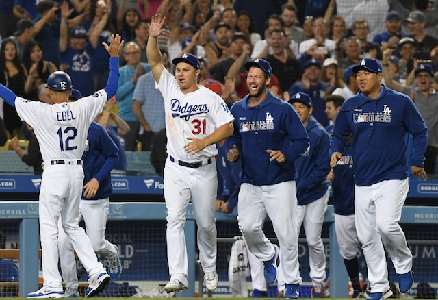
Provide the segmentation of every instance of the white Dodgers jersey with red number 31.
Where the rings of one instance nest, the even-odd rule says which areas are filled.
[[[187,162],[214,157],[215,145],[209,145],[194,155],[185,153],[188,138],[199,140],[212,134],[218,127],[234,120],[227,104],[215,92],[199,86],[199,89],[183,94],[177,79],[166,69],[159,78],[157,88],[162,92],[166,111],[167,151],[169,155]]]

